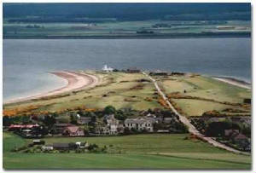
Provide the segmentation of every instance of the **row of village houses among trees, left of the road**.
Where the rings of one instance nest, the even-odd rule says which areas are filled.
[[[114,118],[114,114],[105,115],[102,120],[92,123],[91,117],[78,116],[76,124],[60,123],[61,119],[56,118],[55,124],[51,128],[39,124],[11,124],[9,131],[14,131],[20,136],[26,138],[38,138],[44,135],[49,136],[113,136],[124,134],[125,130],[133,132],[154,132],[154,124],[165,123],[170,124],[173,118],[156,117],[153,114],[126,118],[120,121]],[[92,125],[93,124],[93,125]],[[88,131],[89,127],[93,126],[93,130]],[[42,132],[42,129],[47,129],[47,132]],[[86,129],[86,130],[84,130]],[[157,132],[157,131],[156,131]],[[44,134],[44,135],[43,135]]]

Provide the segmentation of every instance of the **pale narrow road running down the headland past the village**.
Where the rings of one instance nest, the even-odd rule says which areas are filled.
[[[183,124],[187,125],[187,127],[189,129],[189,133],[191,133],[191,134],[201,138],[201,140],[203,140],[203,141],[207,141],[208,143],[212,144],[212,146],[214,146],[214,147],[220,147],[222,149],[225,149],[225,150],[233,152],[233,153],[240,153],[240,154],[250,155],[250,153],[241,152],[241,151],[236,150],[236,149],[234,149],[232,147],[225,146],[224,144],[219,143],[218,141],[213,140],[211,137],[207,137],[207,136],[204,136],[203,134],[201,134],[198,130],[195,129],[195,126],[189,122],[188,118],[186,118],[185,116],[181,115],[179,112],[177,112],[175,107],[172,106],[171,102],[168,101],[165,93],[160,89],[159,85],[157,84],[157,81],[154,78],[150,77],[146,72],[143,72],[143,74],[145,76],[147,76],[154,83],[155,89],[157,89],[158,93],[166,101],[166,104],[168,105],[168,107],[171,108],[172,112],[175,112],[177,114],[179,120]]]

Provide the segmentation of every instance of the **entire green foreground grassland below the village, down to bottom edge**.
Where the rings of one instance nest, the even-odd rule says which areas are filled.
[[[45,138],[50,142],[89,141],[125,151],[103,153],[10,153],[31,140],[3,133],[3,168],[19,169],[172,169],[248,170],[251,158],[228,153],[188,135],[137,135],[88,138]]]

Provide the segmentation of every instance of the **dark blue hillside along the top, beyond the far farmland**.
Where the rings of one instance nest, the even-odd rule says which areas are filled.
[[[3,18],[56,22],[117,20],[251,20],[250,3],[3,3]],[[20,20],[22,21],[22,20]]]

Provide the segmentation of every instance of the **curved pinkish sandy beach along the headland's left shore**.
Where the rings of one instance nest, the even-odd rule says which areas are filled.
[[[40,93],[38,95],[31,95],[27,97],[20,97],[14,100],[6,101],[4,104],[15,103],[20,101],[29,101],[32,99],[38,99],[45,96],[51,95],[60,95],[62,93],[68,91],[76,91],[79,89],[86,89],[96,86],[99,83],[99,79],[96,76],[82,73],[82,72],[72,72],[72,71],[58,71],[58,72],[50,72],[55,74],[56,76],[63,78],[67,81],[67,85],[63,86],[59,89],[50,90],[48,92]]]

